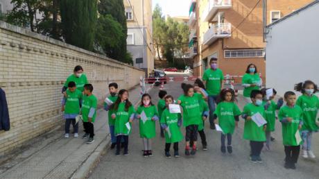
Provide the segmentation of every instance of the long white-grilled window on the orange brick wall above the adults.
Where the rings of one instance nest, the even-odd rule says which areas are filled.
[[[264,49],[225,50],[225,58],[264,58]]]

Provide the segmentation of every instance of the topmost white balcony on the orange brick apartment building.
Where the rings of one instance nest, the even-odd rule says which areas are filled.
[[[219,9],[232,8],[232,0],[209,0],[206,9],[202,13],[204,22],[209,22]]]

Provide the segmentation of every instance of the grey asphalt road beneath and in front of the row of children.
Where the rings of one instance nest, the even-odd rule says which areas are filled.
[[[182,94],[182,82],[169,82],[165,89],[178,98]],[[191,83],[191,82],[190,82]],[[153,103],[157,103],[159,87],[150,90]],[[239,108],[244,102],[239,97]],[[165,139],[160,137],[157,123],[157,137],[153,139],[153,157],[142,157],[143,144],[139,138],[139,125],[135,121],[129,139],[128,156],[116,157],[114,150],[109,150],[89,178],[319,178],[319,160],[300,160],[296,170],[284,169],[284,146],[282,145],[281,124],[277,122],[273,133],[272,151],[261,153],[262,164],[253,164],[249,160],[249,142],[243,135],[243,120],[233,135],[233,153],[222,154],[220,151],[220,133],[210,130],[205,124],[208,151],[199,150],[195,156],[184,156],[184,141],[180,143],[180,158],[164,156]],[[183,128],[184,133],[184,128]],[[200,137],[198,136],[199,142]],[[313,151],[319,157],[319,135],[313,135]],[[173,149],[171,148],[171,154]]]

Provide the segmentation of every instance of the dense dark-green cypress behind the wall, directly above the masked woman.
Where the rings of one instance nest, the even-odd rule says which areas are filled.
[[[60,1],[65,42],[83,49],[94,49],[97,20],[97,0]]]

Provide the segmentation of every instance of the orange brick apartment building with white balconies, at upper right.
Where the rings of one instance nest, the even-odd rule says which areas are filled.
[[[266,23],[288,15],[312,0],[268,0]],[[266,81],[263,1],[191,0],[189,48],[194,75],[202,76],[209,59],[218,58],[224,74],[242,76],[250,63]],[[241,78],[235,78],[239,83]]]

